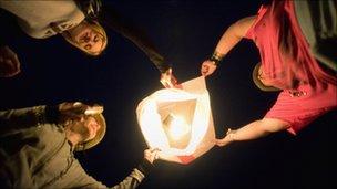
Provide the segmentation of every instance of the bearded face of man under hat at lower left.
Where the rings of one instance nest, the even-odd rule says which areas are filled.
[[[68,126],[68,128],[73,134],[80,135],[82,141],[88,141],[96,136],[101,125],[98,124],[94,117],[86,116],[81,118],[81,120],[73,122]]]

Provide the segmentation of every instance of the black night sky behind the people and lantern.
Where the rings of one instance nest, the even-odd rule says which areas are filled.
[[[184,82],[200,76],[201,63],[210,57],[224,30],[255,14],[264,2],[246,1],[120,0],[105,6],[142,28]],[[103,183],[122,181],[146,149],[135,108],[162,88],[156,67],[131,41],[109,29],[106,51],[98,59],[76,51],[61,36],[34,40],[16,27],[9,29],[2,27],[1,34],[7,32],[2,38],[17,52],[22,73],[0,78],[0,108],[65,101],[103,104],[105,138],[76,157]],[[217,137],[228,127],[262,118],[273,105],[277,93],[258,91],[251,78],[258,60],[255,44],[243,40],[207,77]],[[159,160],[140,188],[337,188],[336,116],[336,111],[321,116],[297,136],[280,132],[214,147],[190,165]]]

